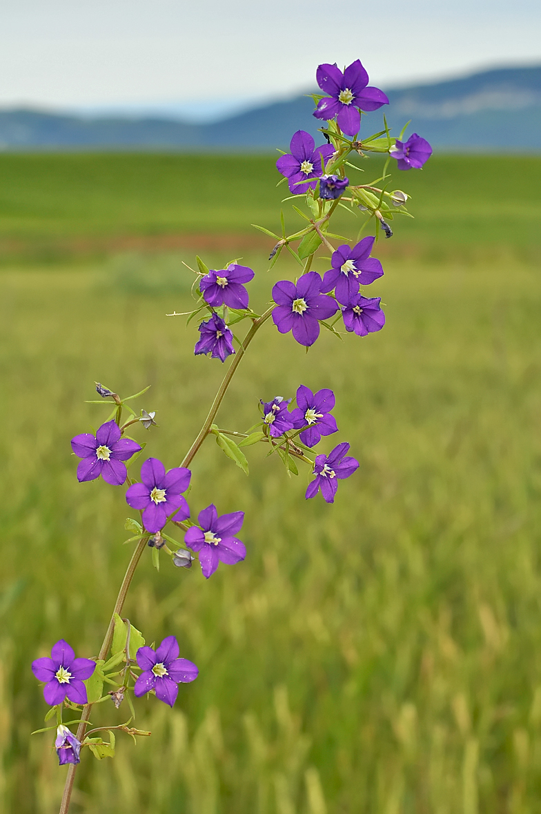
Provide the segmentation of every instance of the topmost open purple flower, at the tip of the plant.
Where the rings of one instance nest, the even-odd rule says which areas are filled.
[[[337,116],[338,126],[349,136],[358,133],[361,126],[357,108],[369,112],[377,110],[383,104],[389,104],[389,99],[382,90],[367,87],[368,74],[359,59],[348,65],[343,73],[336,67],[336,63],[319,65],[315,78],[321,90],[331,98],[319,101],[314,116],[327,120]]]

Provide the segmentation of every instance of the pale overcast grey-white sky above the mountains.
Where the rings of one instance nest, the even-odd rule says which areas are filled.
[[[0,105],[213,115],[360,58],[376,85],[541,63],[532,0],[4,0]]]

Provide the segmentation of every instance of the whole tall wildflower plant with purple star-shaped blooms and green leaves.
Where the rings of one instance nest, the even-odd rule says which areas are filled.
[[[154,411],[141,409],[137,414],[132,406],[148,388],[122,398],[96,383],[99,400],[90,403],[110,405],[111,416],[95,434],[82,433],[72,440],[73,453],[81,459],[73,476],[84,483],[101,475],[108,487],[125,488],[125,501],[137,516],[130,516],[125,523],[132,532],[127,542],[134,544],[134,551],[98,654],[76,658],[73,648],[60,640],[52,647],[51,657],[33,661],[33,673],[42,681],[44,698],[51,707],[46,722],[55,718],[54,725],[37,732],[54,731],[59,764],[68,764],[60,814],[68,812],[81,759],[89,753],[98,759],[114,757],[115,733],[127,733],[134,739],[151,734],[130,726],[135,716],[134,703],[155,696],[172,707],[178,694],[182,699],[182,685],[198,676],[196,663],[186,658],[192,654],[180,654],[174,632],[155,649],[147,646],[143,632],[134,628],[130,619],[122,617],[125,597],[145,550],[150,549],[155,567],[159,567],[163,556],[170,558],[173,567],[186,571],[199,560],[206,579],[212,577],[220,563],[235,565],[246,558],[244,542],[237,537],[244,523],[242,510],[219,514],[214,504],[206,508],[188,504],[189,467],[205,440],[213,436],[222,452],[246,475],[248,448],[265,444],[268,455],[276,454],[288,475],[298,475],[298,466],[306,466],[306,499],[320,492],[327,503],[336,499],[338,481],[350,478],[358,469],[358,461],[348,454],[347,441],[331,444],[327,440],[327,436],[340,432],[332,414],[336,397],[328,387],[313,392],[299,382],[296,394],[262,398],[254,405],[255,423],[246,431],[225,430],[217,423],[218,410],[235,371],[263,326],[269,328],[274,323],[284,334],[284,342],[296,341],[308,351],[321,330],[339,339],[350,333],[358,341],[357,336],[379,331],[385,325],[380,297],[372,296],[372,289],[366,291],[384,274],[380,260],[373,254],[381,231],[385,238],[393,234],[388,221],[398,215],[411,217],[406,209],[407,193],[389,190],[388,170],[394,166],[393,160],[397,160],[399,170],[421,168],[432,150],[416,133],[402,141],[406,128],[398,138],[391,136],[385,116],[380,132],[363,133],[363,113],[377,110],[389,99],[368,85],[367,72],[358,59],[344,71],[336,64],[319,65],[316,79],[324,93],[314,95],[314,116],[322,124],[323,143],[316,146],[309,133],[297,130],[292,134],[290,152],[284,152],[276,164],[291,193],[284,201],[295,201],[292,208],[301,215],[304,225],[289,233],[284,212],[280,212],[281,234],[256,226],[275,241],[269,270],[274,269],[285,251],[299,266],[297,278],[273,281],[270,304],[256,313],[250,307],[247,287],[254,277],[253,269],[235,260],[222,269],[209,269],[200,257],[196,258],[197,269],[192,269],[195,303],[185,316],[192,328],[199,323],[194,353],[207,357],[205,364],[214,364],[210,360],[218,359],[225,363],[232,358],[181,466],[168,469],[167,462],[155,457],[147,457],[140,467],[139,463],[134,466],[147,445],[143,437],[157,426]],[[363,172],[358,161],[362,164],[370,153],[386,154],[387,160],[379,177],[358,183],[358,173]],[[356,237],[342,237],[330,230],[338,207],[349,209],[361,220]],[[363,231],[370,227],[373,234],[363,237]],[[326,266],[322,266],[321,274],[312,269],[316,259]],[[238,338],[236,326],[242,322],[248,330]],[[286,336],[288,333],[292,339]],[[270,394],[265,395],[268,399]],[[139,432],[139,440],[129,432]],[[322,441],[327,449],[333,447],[328,453],[316,449]],[[215,499],[219,505],[219,494]],[[128,720],[117,723],[112,718],[111,724],[89,729],[90,710],[95,703],[108,706],[111,716],[120,707],[127,707],[127,715],[118,715]],[[73,720],[64,720],[67,710],[74,712]]]

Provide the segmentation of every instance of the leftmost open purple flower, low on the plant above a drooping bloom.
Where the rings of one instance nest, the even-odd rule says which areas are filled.
[[[44,657],[32,663],[37,681],[46,681],[43,697],[51,707],[68,699],[74,704],[86,704],[86,686],[83,679],[90,678],[96,664],[90,659],[76,659],[73,648],[60,639],[51,650],[51,659]]]

